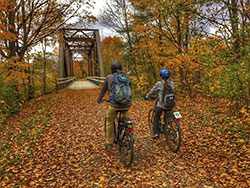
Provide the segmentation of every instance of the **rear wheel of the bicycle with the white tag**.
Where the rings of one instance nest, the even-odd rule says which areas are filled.
[[[170,121],[166,131],[166,144],[173,152],[179,151],[181,147],[181,127],[178,122]]]

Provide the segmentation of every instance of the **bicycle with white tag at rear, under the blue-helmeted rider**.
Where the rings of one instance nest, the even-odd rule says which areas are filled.
[[[157,100],[156,100],[157,103]],[[156,105],[155,103],[155,105]],[[151,108],[148,113],[148,124],[150,135],[153,138],[153,123],[154,123],[154,108]],[[182,118],[180,112],[164,111],[163,121],[160,122],[160,134],[163,134],[166,139],[166,145],[173,152],[179,151],[181,147],[181,125]],[[161,118],[162,119],[162,118]]]

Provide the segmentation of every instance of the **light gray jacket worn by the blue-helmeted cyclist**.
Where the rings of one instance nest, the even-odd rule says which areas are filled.
[[[174,82],[172,80],[169,80],[169,82],[170,82],[169,83],[170,86],[172,87],[174,91]],[[154,93],[157,93],[158,101],[157,101],[156,106],[160,108],[164,108],[163,103],[162,103],[162,93],[163,93],[164,85],[165,85],[165,80],[156,82],[153,88],[146,95],[146,98],[150,98]]]

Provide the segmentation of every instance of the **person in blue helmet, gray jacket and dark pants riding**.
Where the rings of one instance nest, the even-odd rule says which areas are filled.
[[[149,91],[149,93],[146,95],[145,99],[148,100],[154,93],[157,93],[158,95],[158,101],[155,106],[155,116],[154,116],[154,124],[153,124],[153,134],[154,138],[159,137],[159,124],[160,124],[160,117],[163,111],[166,111],[168,109],[164,108],[163,100],[162,100],[162,94],[164,90],[164,86],[166,82],[169,82],[169,85],[172,87],[174,91],[174,82],[172,80],[168,80],[170,77],[170,71],[168,69],[162,69],[160,71],[160,77],[162,80],[155,83],[153,88]]]

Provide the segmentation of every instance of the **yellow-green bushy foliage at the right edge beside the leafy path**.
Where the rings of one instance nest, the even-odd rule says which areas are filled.
[[[228,99],[229,106],[233,107],[235,112],[239,112],[247,104],[247,93],[249,90],[249,53],[243,54],[236,59],[233,56],[225,56],[230,54],[230,49],[227,52],[218,54],[217,59],[225,59],[223,66],[217,65],[208,66],[205,75],[204,84],[205,90],[209,95]],[[209,89],[208,89],[209,87]]]

